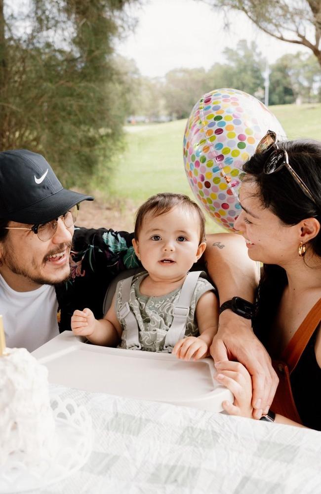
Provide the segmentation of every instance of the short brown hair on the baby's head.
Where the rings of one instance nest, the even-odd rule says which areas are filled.
[[[153,216],[161,216],[161,214],[167,213],[176,206],[183,206],[191,212],[196,212],[200,220],[200,243],[203,242],[205,238],[205,217],[200,207],[188,196],[183,194],[172,194],[171,192],[156,194],[147,199],[147,201],[139,207],[135,216],[135,239],[138,240],[138,235],[147,213],[151,213]]]

